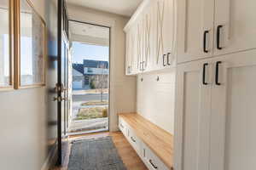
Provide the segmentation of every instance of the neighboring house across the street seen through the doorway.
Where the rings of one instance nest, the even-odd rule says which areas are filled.
[[[108,88],[108,61],[84,59],[73,64],[73,89]]]

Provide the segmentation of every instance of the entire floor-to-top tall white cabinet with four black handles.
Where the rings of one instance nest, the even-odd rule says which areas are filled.
[[[176,170],[256,168],[255,8],[177,1]]]

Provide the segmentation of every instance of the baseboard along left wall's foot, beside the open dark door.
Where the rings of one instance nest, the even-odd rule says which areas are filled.
[[[49,151],[49,154],[46,157],[46,160],[44,161],[44,165],[43,167],[41,167],[41,170],[49,170],[50,167],[55,165],[56,161],[57,161],[57,143],[55,142],[54,146]]]

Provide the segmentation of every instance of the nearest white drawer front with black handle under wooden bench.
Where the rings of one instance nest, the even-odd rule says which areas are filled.
[[[170,170],[145,144],[143,144],[143,161],[149,170]]]

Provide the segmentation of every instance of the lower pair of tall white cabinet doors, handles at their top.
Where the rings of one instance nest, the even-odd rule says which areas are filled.
[[[255,169],[255,56],[178,65],[175,169]]]

